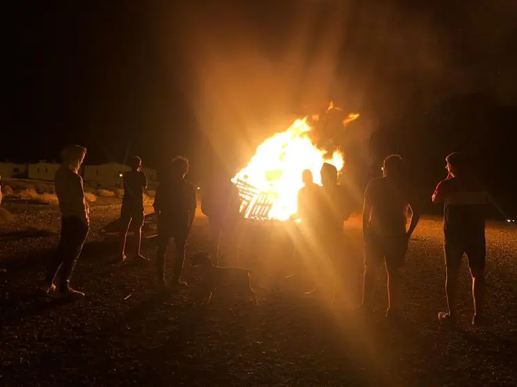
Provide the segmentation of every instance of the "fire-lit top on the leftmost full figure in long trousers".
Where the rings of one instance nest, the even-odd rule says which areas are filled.
[[[87,223],[90,210],[84,197],[83,178],[66,166],[60,166],[54,180],[61,216],[76,216]]]

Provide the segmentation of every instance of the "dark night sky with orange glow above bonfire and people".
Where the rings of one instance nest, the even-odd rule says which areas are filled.
[[[3,6],[0,159],[57,159],[76,142],[87,162],[238,165],[329,100],[361,113],[364,141],[404,128],[397,147],[419,154],[452,137],[504,144],[515,117],[515,1],[188,3]]]

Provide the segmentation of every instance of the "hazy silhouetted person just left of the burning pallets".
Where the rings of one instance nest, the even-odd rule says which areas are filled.
[[[240,204],[239,192],[231,177],[225,171],[216,171],[203,192],[201,203],[202,212],[208,217],[211,257],[216,264],[219,264],[222,234],[236,232]],[[237,237],[233,239],[236,241]]]

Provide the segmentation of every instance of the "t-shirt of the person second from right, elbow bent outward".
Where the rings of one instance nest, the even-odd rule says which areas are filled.
[[[364,193],[365,201],[372,205],[368,229],[380,235],[404,234],[411,196],[407,184],[392,178],[370,180]]]

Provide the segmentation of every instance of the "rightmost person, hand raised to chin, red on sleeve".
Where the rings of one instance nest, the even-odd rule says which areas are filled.
[[[441,321],[456,320],[459,267],[463,254],[468,257],[474,301],[473,325],[486,322],[483,311],[486,282],[484,277],[486,241],[485,210],[489,196],[470,175],[463,153],[451,153],[445,158],[448,176],[438,183],[432,200],[444,203],[443,236],[445,252],[445,295],[448,311],[438,313]]]

